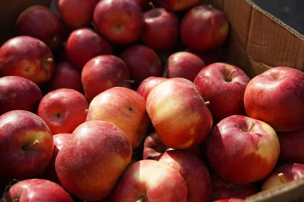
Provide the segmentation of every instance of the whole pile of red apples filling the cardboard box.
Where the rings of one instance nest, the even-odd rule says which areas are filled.
[[[0,48],[1,202],[237,202],[304,176],[304,73],[222,61],[222,11],[55,3]]]

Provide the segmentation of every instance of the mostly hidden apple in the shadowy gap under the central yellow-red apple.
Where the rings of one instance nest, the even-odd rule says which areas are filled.
[[[155,160],[158,156],[168,150],[174,150],[173,148],[168,148],[160,139],[158,134],[153,131],[145,138],[143,143],[143,159]],[[187,153],[196,156],[197,158],[202,158],[201,148],[199,146],[194,146],[185,149]]]

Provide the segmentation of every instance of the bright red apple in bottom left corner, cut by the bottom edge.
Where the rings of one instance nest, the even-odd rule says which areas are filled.
[[[45,179],[27,179],[14,184],[4,198],[4,202],[73,202],[72,197],[64,190],[62,186],[55,182]]]

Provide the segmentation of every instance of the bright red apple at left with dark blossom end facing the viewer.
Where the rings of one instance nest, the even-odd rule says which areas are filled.
[[[38,107],[40,116],[49,126],[53,135],[72,133],[87,118],[89,104],[80,92],[60,88],[46,94]]]

